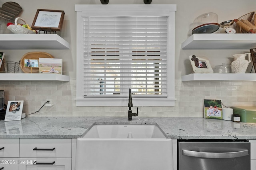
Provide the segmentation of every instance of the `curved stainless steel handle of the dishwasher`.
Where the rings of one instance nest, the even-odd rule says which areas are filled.
[[[201,158],[238,158],[242,156],[249,155],[249,150],[242,150],[238,152],[198,152],[192,150],[182,150],[183,155],[185,156],[193,156],[193,157],[201,157]]]

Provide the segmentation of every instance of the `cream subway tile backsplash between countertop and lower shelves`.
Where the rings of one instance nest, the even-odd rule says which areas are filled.
[[[203,100],[221,99],[227,106],[256,106],[255,81],[192,81],[175,80],[174,107],[139,107],[139,117],[204,117]],[[76,107],[76,79],[70,82],[3,81],[5,103],[24,100],[26,114],[52,99],[52,107],[42,107],[31,117],[127,116],[128,107]],[[132,108],[136,112],[136,103]]]

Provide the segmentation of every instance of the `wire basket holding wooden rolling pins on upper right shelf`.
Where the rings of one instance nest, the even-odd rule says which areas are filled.
[[[256,16],[255,11],[241,16],[235,20],[236,33],[255,34],[256,33]]]

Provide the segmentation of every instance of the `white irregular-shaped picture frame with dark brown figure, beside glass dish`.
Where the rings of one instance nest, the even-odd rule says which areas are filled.
[[[213,73],[208,59],[196,57],[195,55],[190,55],[189,59],[194,73]]]

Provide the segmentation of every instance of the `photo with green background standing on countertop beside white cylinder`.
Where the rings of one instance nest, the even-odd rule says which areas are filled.
[[[205,119],[222,119],[221,100],[204,99],[204,118]]]

